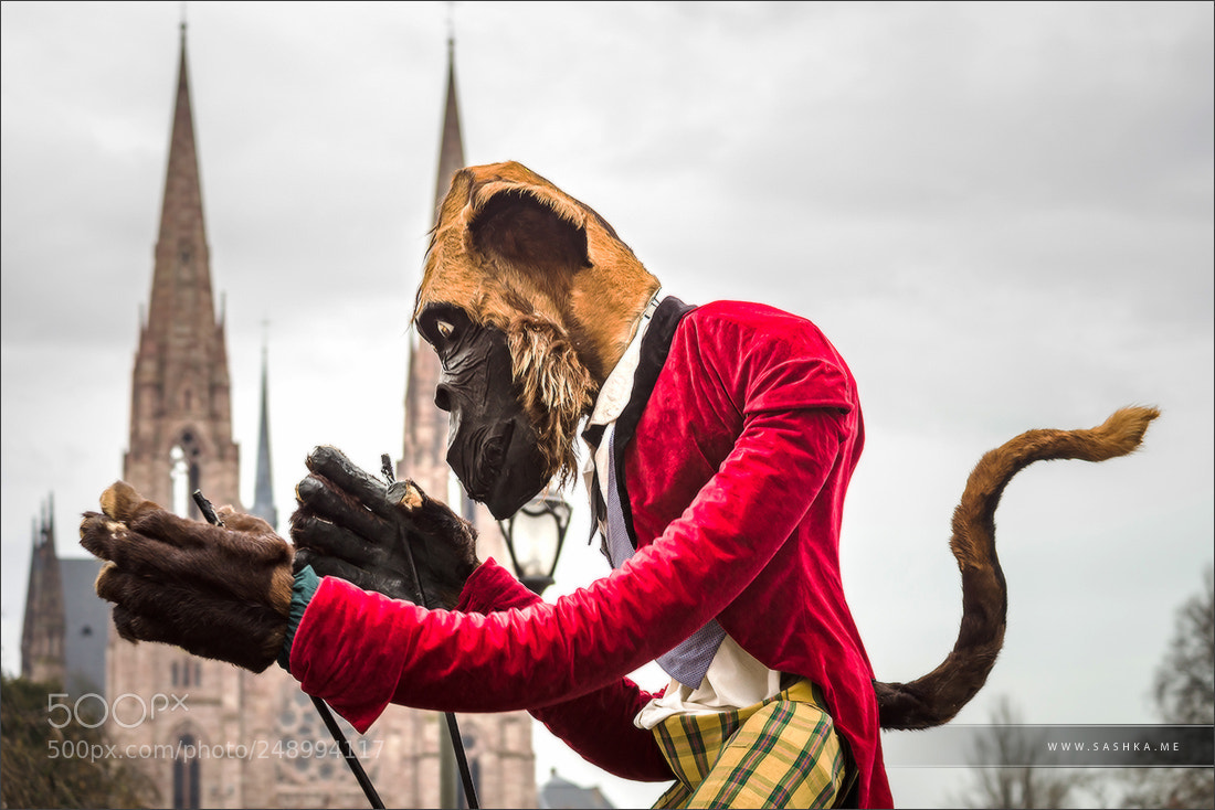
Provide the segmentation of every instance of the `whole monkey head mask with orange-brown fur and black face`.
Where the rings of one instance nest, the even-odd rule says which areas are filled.
[[[525,166],[452,177],[413,318],[443,363],[447,460],[496,516],[573,474],[578,421],[657,289],[603,217]],[[509,376],[474,368],[504,358]]]

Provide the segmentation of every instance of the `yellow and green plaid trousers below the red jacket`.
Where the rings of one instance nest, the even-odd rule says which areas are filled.
[[[673,715],[654,733],[678,778],[655,808],[830,808],[846,793],[847,755],[808,680],[745,709]]]

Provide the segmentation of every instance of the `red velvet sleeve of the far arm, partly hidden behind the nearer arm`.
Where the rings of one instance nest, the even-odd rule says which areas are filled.
[[[469,578],[456,610],[492,613],[542,601],[492,559]],[[616,776],[639,782],[674,778],[654,733],[633,724],[652,695],[628,678],[572,701],[531,709],[532,716],[583,759]]]

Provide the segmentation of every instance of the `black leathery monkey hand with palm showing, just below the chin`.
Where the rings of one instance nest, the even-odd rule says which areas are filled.
[[[476,529],[413,481],[388,485],[334,447],[306,459],[292,515],[295,571],[312,566],[363,590],[452,608],[476,570]],[[411,554],[412,550],[412,561]]]

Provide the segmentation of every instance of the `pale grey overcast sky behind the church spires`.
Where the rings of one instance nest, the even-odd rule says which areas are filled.
[[[53,492],[60,551],[83,555],[78,516],[122,475],[182,6],[0,9],[11,673],[32,521]],[[880,679],[916,678],[953,645],[949,519],[983,452],[1159,406],[1140,453],[1034,466],[1008,489],[1006,648],[959,721],[1000,695],[1032,723],[1154,719],[1152,672],[1215,534],[1210,4],[186,13],[245,503],[264,334],[284,519],[312,446],[372,468],[400,455],[451,24],[470,163],[527,164],[668,293],[780,306],[848,358],[868,443],[842,565]],[[549,596],[606,573],[571,502],[582,522]],[[895,800],[931,805],[961,771],[898,767],[908,738],[886,736]],[[622,805],[656,794],[537,749],[543,776]]]

